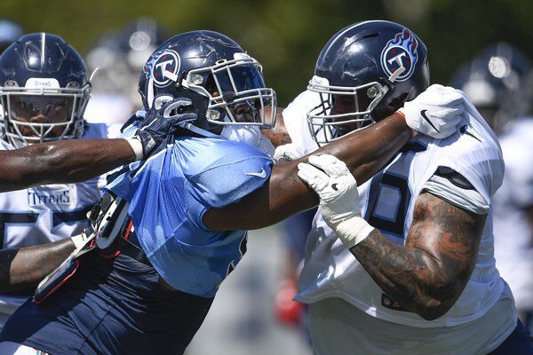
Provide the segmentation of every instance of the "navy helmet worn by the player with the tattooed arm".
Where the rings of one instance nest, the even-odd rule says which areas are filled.
[[[307,89],[320,104],[307,113],[319,146],[392,114],[429,86],[426,45],[394,22],[371,20],[338,31],[323,47]]]

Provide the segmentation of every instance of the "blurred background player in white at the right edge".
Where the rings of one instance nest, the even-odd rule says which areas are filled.
[[[497,270],[513,291],[519,318],[533,331],[533,171],[524,163],[533,161],[531,62],[511,44],[494,43],[461,67],[451,83],[465,91],[499,135],[505,177],[494,198]]]

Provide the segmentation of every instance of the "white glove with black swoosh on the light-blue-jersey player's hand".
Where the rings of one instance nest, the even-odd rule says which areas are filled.
[[[405,116],[405,121],[412,130],[438,139],[447,138],[456,132],[464,111],[460,91],[439,84],[431,85],[398,110]]]

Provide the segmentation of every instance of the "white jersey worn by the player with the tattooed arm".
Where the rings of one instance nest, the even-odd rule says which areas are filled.
[[[313,105],[314,102],[308,103],[307,109]],[[404,244],[417,196],[438,167],[457,171],[481,194],[490,210],[475,269],[457,303],[444,316],[432,321],[399,310],[326,225],[320,210],[307,238],[305,264],[298,280],[298,301],[312,304],[327,297],[340,297],[362,312],[391,323],[408,327],[453,327],[481,318],[501,297],[508,298],[503,296],[507,286],[496,269],[492,233],[491,196],[504,175],[501,149],[473,105],[469,101],[465,105],[468,114],[456,134],[442,140],[418,135],[384,170],[359,187],[362,216],[397,244]],[[291,138],[293,133],[311,138],[308,130],[297,129],[295,121],[305,117],[290,115],[306,111],[304,106],[305,103],[300,103],[298,110],[283,112]],[[305,142],[307,138],[295,140]],[[306,153],[313,149],[312,146],[303,148]],[[509,314],[505,327],[513,327],[516,322],[512,307]],[[508,335],[512,330],[502,332],[507,331]]]

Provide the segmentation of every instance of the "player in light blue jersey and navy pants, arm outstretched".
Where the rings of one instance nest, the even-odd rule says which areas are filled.
[[[385,95],[399,74],[389,75],[391,87],[377,86],[377,94]],[[431,124],[418,111],[405,118],[393,111],[322,153],[344,159],[364,181],[410,139],[411,128],[455,132],[460,95],[442,92],[428,104],[415,99],[424,89],[403,99],[414,99]],[[235,41],[212,31],[172,37],[148,59],[139,92],[146,108],[190,99],[197,119],[107,185],[94,223],[98,252],[86,249],[62,288],[13,314],[0,335],[2,353],[182,353],[243,256],[246,230],[316,204],[297,177],[298,161],[273,166],[256,147],[259,128],[274,124],[275,95],[259,62]]]

